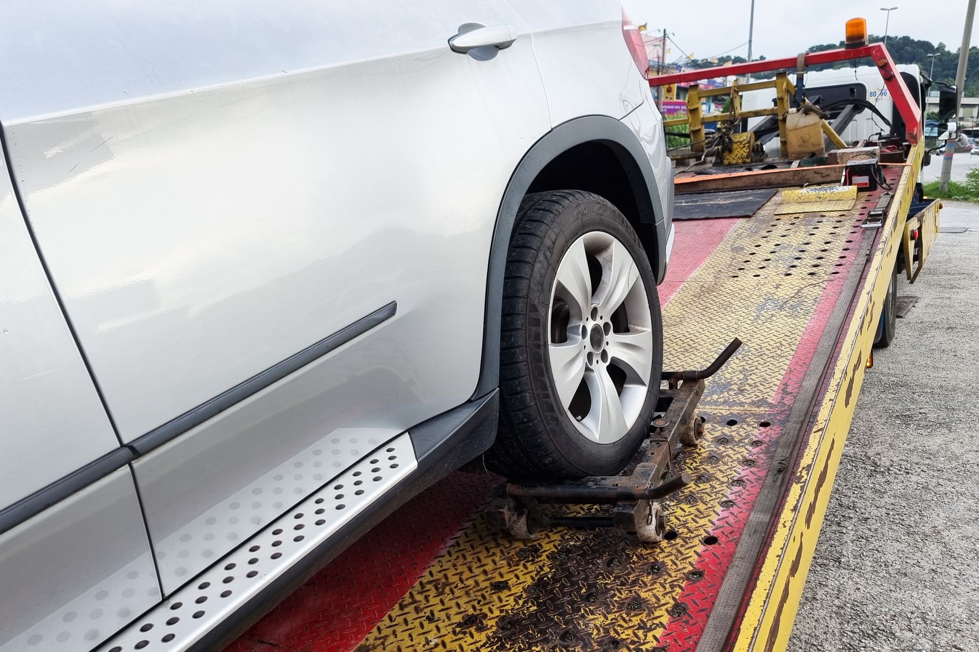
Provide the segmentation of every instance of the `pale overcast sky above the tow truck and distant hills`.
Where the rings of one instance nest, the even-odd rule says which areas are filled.
[[[771,59],[796,55],[811,45],[835,43],[843,39],[847,19],[858,16],[866,19],[871,34],[883,34],[887,13],[880,8],[897,6],[891,12],[889,34],[942,41],[955,52],[962,40],[966,5],[966,0],[755,0],[752,49],[755,57]],[[748,54],[751,0],[623,0],[623,6],[636,24],[647,22],[650,30],[665,27],[676,45],[696,59]],[[973,25],[973,46],[979,46],[976,31]],[[680,57],[672,46],[667,61]]]

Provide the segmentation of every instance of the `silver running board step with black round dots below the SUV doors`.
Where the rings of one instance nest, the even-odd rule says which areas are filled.
[[[416,467],[411,439],[407,433],[398,435],[117,633],[98,652],[188,649]]]

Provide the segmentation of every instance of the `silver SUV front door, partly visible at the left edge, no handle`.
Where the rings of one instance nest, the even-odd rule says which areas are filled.
[[[0,651],[87,650],[160,598],[118,446],[0,166]]]

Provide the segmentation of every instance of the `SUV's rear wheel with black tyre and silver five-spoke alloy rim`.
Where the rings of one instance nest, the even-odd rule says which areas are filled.
[[[523,478],[618,473],[646,436],[662,369],[656,281],[629,221],[590,193],[527,196],[503,284],[490,467]]]

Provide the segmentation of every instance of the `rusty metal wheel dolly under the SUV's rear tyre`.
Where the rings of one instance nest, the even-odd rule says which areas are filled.
[[[740,346],[741,340],[735,338],[706,369],[663,373],[669,387],[660,390],[649,435],[620,475],[498,485],[486,509],[489,525],[517,539],[533,539],[547,527],[572,527],[614,528],[635,534],[639,541],[662,541],[667,516],[660,500],[693,481],[686,473],[674,473],[671,465],[684,446],[697,446],[703,436],[704,417],[696,410],[704,395],[704,379],[721,369]],[[548,511],[542,504],[611,505],[612,509],[579,515]]]

